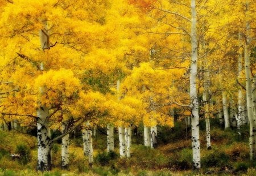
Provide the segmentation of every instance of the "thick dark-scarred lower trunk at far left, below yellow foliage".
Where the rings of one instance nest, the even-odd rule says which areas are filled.
[[[51,170],[51,134],[49,131],[49,110],[41,106],[37,111],[38,119],[38,167],[40,171]]]

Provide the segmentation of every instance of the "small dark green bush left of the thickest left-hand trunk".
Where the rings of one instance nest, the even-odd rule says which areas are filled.
[[[22,165],[26,165],[31,160],[30,149],[27,147],[26,144],[17,145],[15,153],[20,155],[18,161]]]

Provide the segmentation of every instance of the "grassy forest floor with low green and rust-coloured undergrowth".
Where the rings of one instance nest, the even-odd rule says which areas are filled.
[[[143,146],[142,127],[133,136],[131,158],[119,158],[118,148],[106,153],[106,135],[99,129],[94,138],[94,165],[88,166],[88,158],[82,151],[81,134],[71,136],[69,170],[61,170],[61,141],[53,144],[52,171],[36,172],[36,137],[17,131],[0,132],[0,176],[1,175],[256,175],[255,162],[249,160],[249,132],[247,126],[236,130],[222,130],[213,127],[211,131],[212,149],[206,147],[204,127],[201,127],[200,171],[192,170],[192,147],[189,129],[177,123],[170,130],[159,127],[156,149]],[[118,146],[118,136],[115,136]],[[23,153],[23,158],[13,159],[13,153]]]

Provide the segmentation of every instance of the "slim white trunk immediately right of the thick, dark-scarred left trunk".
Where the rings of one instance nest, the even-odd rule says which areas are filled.
[[[62,125],[62,133],[66,132],[66,126]],[[61,145],[61,168],[68,169],[69,166],[69,134],[62,138]]]

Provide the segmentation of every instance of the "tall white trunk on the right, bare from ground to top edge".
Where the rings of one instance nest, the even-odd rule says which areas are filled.
[[[191,131],[192,131],[192,151],[193,167],[201,168],[200,140],[199,140],[199,102],[197,98],[196,78],[197,78],[197,33],[196,33],[196,0],[191,0],[191,73],[190,98],[191,98]]]

